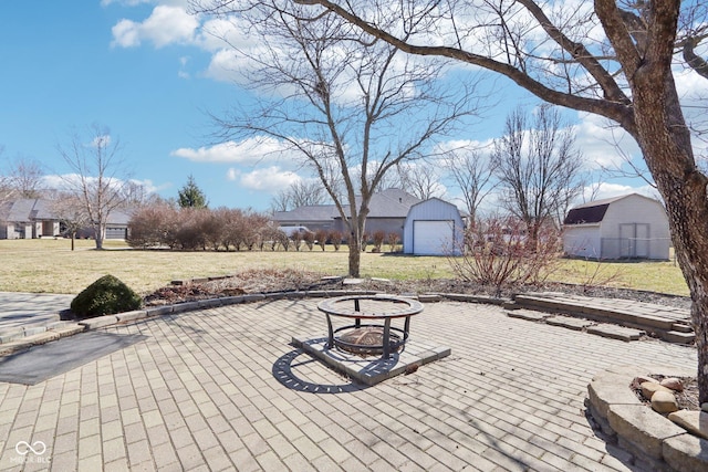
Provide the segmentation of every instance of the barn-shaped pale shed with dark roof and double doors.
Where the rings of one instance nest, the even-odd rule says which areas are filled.
[[[664,206],[638,193],[581,204],[563,221],[563,250],[572,256],[668,260],[669,245]]]

